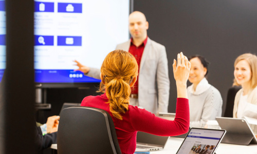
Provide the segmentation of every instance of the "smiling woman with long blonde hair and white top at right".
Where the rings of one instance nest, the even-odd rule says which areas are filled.
[[[241,85],[242,89],[235,95],[233,118],[257,118],[257,56],[242,54],[236,58],[234,67],[233,85]]]

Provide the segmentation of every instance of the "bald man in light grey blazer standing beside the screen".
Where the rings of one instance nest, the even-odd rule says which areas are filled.
[[[128,20],[132,38],[117,45],[116,50],[130,52],[138,63],[139,75],[131,91],[130,105],[145,108],[152,113],[168,112],[170,80],[166,49],[148,37],[149,23],[142,12],[132,12]],[[99,69],[75,62],[79,67],[77,70],[100,79]]]

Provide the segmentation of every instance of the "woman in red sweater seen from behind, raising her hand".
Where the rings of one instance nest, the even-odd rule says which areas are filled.
[[[99,91],[104,94],[84,98],[81,106],[106,110],[114,121],[121,152],[134,153],[137,131],[158,136],[177,136],[188,132],[187,80],[190,67],[190,62],[182,52],[177,55],[177,62],[174,59],[173,72],[177,86],[174,121],[158,118],[145,109],[129,105],[131,87],[137,80],[138,65],[135,57],[123,50],[110,52],[103,61]]]

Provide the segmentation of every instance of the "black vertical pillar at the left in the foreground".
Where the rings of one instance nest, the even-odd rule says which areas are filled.
[[[33,12],[33,0],[6,1],[4,153],[35,153]]]

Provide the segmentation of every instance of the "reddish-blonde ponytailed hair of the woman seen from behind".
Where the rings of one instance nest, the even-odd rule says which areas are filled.
[[[106,92],[110,111],[115,118],[122,120],[120,113],[128,110],[130,102],[130,83],[138,75],[135,57],[123,50],[110,52],[101,66],[103,81],[101,92]]]

